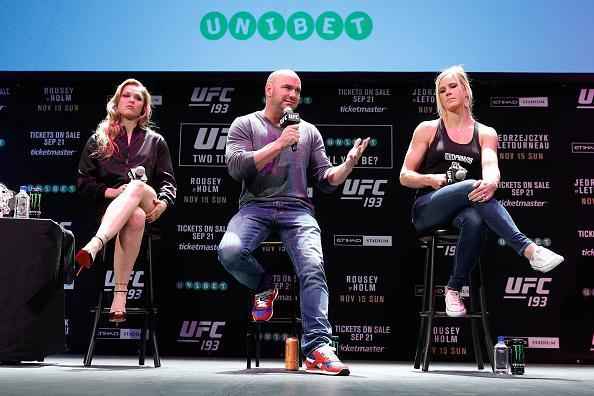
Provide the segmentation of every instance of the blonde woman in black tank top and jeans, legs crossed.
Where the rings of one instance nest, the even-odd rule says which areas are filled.
[[[548,272],[563,262],[563,257],[528,239],[494,198],[500,178],[497,132],[475,121],[472,89],[461,66],[439,74],[435,96],[440,117],[423,121],[415,129],[400,183],[417,189],[412,210],[417,231],[449,225],[460,230],[445,300],[449,316],[464,316],[459,292],[480,256],[485,229],[526,257],[534,270]],[[450,171],[447,177],[452,166],[466,170],[462,181],[452,177],[456,172]]]

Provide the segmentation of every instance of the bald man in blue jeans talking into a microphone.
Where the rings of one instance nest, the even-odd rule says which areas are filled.
[[[236,118],[229,128],[225,159],[242,191],[239,211],[219,244],[219,261],[240,283],[255,290],[254,320],[269,320],[278,291],[252,253],[271,232],[277,232],[299,278],[301,349],[307,370],[348,375],[348,367],[330,347],[320,227],[307,196],[307,181],[313,180],[323,192],[336,189],[352,172],[369,138],[357,139],[346,160],[332,166],[318,129],[293,112],[301,95],[297,74],[271,73],[264,92],[264,109]]]

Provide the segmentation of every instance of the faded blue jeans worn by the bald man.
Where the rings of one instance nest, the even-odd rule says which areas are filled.
[[[320,227],[312,210],[298,202],[249,203],[233,216],[219,244],[219,261],[240,283],[256,289],[265,270],[252,255],[272,231],[277,231],[299,279],[303,337],[308,355],[330,343],[328,286]]]

